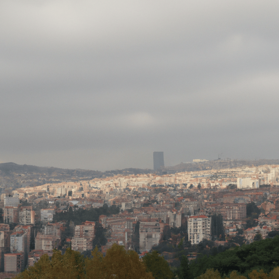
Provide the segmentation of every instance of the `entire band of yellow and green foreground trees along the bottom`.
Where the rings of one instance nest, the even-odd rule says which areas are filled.
[[[180,267],[171,270],[157,251],[147,253],[139,260],[135,251],[125,251],[117,244],[113,244],[105,256],[98,247],[91,257],[71,249],[63,255],[54,250],[51,258],[43,255],[16,279],[275,279],[279,278],[279,236],[215,255],[198,256],[190,262],[185,255],[179,260]]]

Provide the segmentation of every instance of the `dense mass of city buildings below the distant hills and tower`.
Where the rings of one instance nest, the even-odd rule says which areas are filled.
[[[0,271],[20,272],[42,254],[51,255],[54,248],[91,251],[95,222],[76,226],[53,222],[55,214],[69,208],[86,210],[104,204],[120,208],[117,215],[99,217],[107,232],[103,252],[113,243],[139,253],[149,251],[171,237],[170,228],[187,229],[192,244],[218,240],[212,235],[210,216],[214,213],[222,215],[227,237],[242,230],[248,242],[256,234],[264,238],[278,227],[278,178],[279,167],[265,165],[25,185],[1,194]],[[257,226],[245,230],[246,206],[251,202],[261,209],[261,215],[255,220]]]

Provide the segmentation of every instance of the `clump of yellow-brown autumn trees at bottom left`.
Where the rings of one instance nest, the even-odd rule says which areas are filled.
[[[105,257],[92,252],[92,258],[85,259],[70,248],[62,255],[54,250],[51,259],[47,254],[32,267],[16,276],[16,279],[154,279],[139,260],[135,251],[125,251],[124,246],[113,244]]]

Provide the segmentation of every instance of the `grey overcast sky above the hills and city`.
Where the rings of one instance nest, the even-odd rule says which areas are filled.
[[[279,158],[279,3],[0,1],[0,162]]]

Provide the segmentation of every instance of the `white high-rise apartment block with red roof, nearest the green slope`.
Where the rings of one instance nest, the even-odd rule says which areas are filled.
[[[211,217],[205,215],[188,218],[188,241],[198,244],[203,239],[211,240]]]

